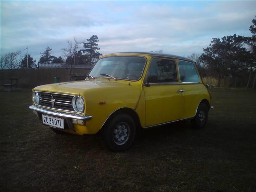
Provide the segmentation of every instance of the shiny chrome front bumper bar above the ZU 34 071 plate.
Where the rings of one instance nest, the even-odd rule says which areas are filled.
[[[35,110],[39,113],[43,113],[43,114],[59,116],[59,117],[64,117],[64,118],[81,119],[83,121],[87,121],[87,120],[90,120],[92,118],[91,115],[82,115],[82,114],[59,112],[59,111],[54,111],[54,110],[49,110],[49,109],[36,107],[34,105],[31,105],[28,108],[32,109],[32,110]]]

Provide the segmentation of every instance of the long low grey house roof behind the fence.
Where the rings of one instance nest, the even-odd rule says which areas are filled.
[[[72,69],[91,69],[92,67],[93,67],[93,65],[84,65],[84,64],[72,65]],[[69,69],[70,64],[66,64],[66,63],[39,63],[39,68]]]

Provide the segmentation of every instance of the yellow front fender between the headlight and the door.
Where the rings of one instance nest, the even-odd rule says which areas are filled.
[[[91,133],[97,133],[117,109],[124,107],[135,109],[140,93],[141,90],[132,85],[82,92],[80,95],[85,99],[86,114],[92,116],[86,126]]]

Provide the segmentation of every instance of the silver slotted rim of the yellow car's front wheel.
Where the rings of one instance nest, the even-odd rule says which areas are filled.
[[[116,145],[125,144],[130,137],[130,126],[126,122],[116,124],[113,130],[113,140]]]

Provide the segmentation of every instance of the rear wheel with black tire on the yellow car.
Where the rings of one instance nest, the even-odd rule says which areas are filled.
[[[198,106],[197,114],[194,119],[191,120],[192,127],[195,129],[202,129],[205,127],[208,120],[208,107],[205,103],[201,103]]]

